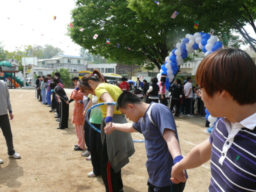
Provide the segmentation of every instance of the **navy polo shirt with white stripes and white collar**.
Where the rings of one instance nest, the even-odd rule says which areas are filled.
[[[231,125],[232,124],[232,125]],[[208,191],[256,191],[256,113],[239,123],[220,118],[212,144]]]

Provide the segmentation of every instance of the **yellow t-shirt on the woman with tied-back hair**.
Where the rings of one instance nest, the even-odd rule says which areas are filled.
[[[113,85],[113,84],[108,84],[105,82],[100,83],[97,86],[97,88],[95,89],[95,94],[98,98],[98,103],[104,102],[102,99],[100,99],[101,94],[103,94],[104,92],[108,92],[110,94],[110,96],[112,97],[112,99],[114,100],[114,102],[116,102],[117,98],[122,93],[122,90],[118,86]],[[101,105],[99,107],[101,109],[103,117],[105,118],[106,117],[106,105]],[[119,110],[116,110],[116,108],[114,107],[114,114],[121,114],[121,112]]]

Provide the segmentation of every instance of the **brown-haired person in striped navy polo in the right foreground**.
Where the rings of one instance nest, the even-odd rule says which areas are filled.
[[[210,159],[208,191],[256,191],[255,74],[255,63],[240,49],[220,49],[201,61],[198,94],[211,116],[222,118],[209,139],[172,167],[172,182],[183,181],[181,170]]]

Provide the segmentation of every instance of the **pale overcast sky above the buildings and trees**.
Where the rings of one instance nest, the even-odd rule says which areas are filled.
[[[0,41],[4,49],[13,51],[15,46],[26,44],[52,44],[66,55],[79,56],[80,46],[65,35],[74,6],[74,0],[0,0]],[[251,27],[246,29],[255,38]]]

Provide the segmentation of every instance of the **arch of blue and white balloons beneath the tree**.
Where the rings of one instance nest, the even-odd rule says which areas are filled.
[[[185,38],[181,39],[181,42],[176,43],[176,48],[172,49],[169,56],[166,56],[165,63],[161,65],[160,73],[157,74],[158,80],[163,73],[167,74],[165,87],[170,87],[170,82],[178,71],[178,66],[188,56],[187,53],[192,53],[195,49],[200,48],[207,56],[211,52],[222,48],[222,46],[223,44],[217,40],[217,36],[211,36],[209,33],[195,32],[194,34],[186,34]],[[205,118],[210,122],[210,128],[208,129],[208,132],[210,132],[218,118],[212,117],[207,109],[205,109],[205,112]]]

